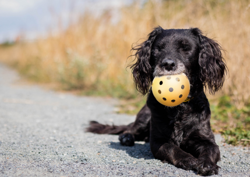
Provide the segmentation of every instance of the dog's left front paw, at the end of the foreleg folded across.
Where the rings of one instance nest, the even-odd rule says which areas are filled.
[[[175,166],[184,170],[193,170],[197,166],[198,160],[192,156],[184,157],[177,162]]]

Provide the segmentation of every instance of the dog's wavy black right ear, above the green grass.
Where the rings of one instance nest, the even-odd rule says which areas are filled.
[[[198,28],[192,29],[200,43],[199,65],[200,80],[209,92],[214,94],[224,83],[227,67],[221,53],[221,46],[214,40],[202,35]]]

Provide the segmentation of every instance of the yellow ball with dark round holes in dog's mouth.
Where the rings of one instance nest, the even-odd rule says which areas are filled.
[[[159,103],[173,107],[187,99],[190,92],[190,83],[184,73],[155,77],[152,91]]]

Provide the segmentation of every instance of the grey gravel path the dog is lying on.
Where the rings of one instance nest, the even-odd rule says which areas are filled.
[[[18,84],[0,65],[0,176],[196,176],[153,158],[148,143],[85,133],[89,120],[127,124],[115,100],[77,97]],[[217,136],[217,141],[221,139]],[[218,176],[250,176],[250,149],[220,143]]]

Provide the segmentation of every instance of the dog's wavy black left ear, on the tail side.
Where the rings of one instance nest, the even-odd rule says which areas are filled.
[[[148,39],[142,44],[132,48],[135,50],[136,62],[130,67],[134,77],[136,89],[145,95],[152,81],[152,66],[150,65],[151,47],[158,34],[163,29],[159,26],[155,28],[149,35]]]

